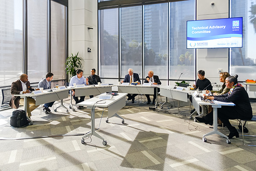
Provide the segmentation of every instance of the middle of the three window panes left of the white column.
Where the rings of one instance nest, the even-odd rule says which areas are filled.
[[[47,73],[47,0],[28,0],[28,75],[39,82]]]

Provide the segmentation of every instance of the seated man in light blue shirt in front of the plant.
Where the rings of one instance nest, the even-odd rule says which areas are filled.
[[[77,85],[79,85],[79,84],[89,85],[88,78],[83,77],[83,70],[78,69],[76,71],[76,75],[70,79],[70,86],[73,86],[74,83],[76,83]],[[75,96],[74,89],[72,89],[72,95],[73,95],[74,100],[76,101],[76,104],[84,101],[85,96],[81,96],[80,100],[79,100],[78,97]],[[82,108],[82,106],[77,106],[77,109],[81,109],[81,108]]]

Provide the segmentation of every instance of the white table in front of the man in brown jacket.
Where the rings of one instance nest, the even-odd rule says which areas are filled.
[[[26,107],[27,107],[27,97],[35,98],[35,105],[40,105],[40,104],[45,104],[49,103],[51,101],[57,101],[61,100],[61,104],[56,107],[54,110],[55,112],[57,111],[57,108],[59,107],[64,107],[63,105],[63,99],[68,98],[68,92],[69,89],[62,89],[62,90],[52,90],[51,92],[48,92],[48,90],[44,90],[43,93],[40,94],[31,94],[31,93],[26,93],[26,94],[15,94],[14,96],[20,96],[20,98],[24,99],[24,110],[27,112]],[[67,113],[68,113],[67,109]],[[29,120],[30,124],[33,124],[33,121],[27,116],[27,119]]]

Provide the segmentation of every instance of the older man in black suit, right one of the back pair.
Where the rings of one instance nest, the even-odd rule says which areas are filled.
[[[148,76],[146,77],[146,80],[144,81],[144,83],[151,83],[151,84],[154,84],[154,85],[161,85],[162,84],[159,77],[157,75],[154,75],[154,72],[152,70],[148,71]],[[152,104],[156,104],[155,100],[157,98],[157,93],[159,93],[159,92],[160,92],[160,88],[154,88],[154,96],[153,96]],[[148,99],[147,104],[150,104],[151,100],[150,100],[149,94],[146,94],[145,96]]]

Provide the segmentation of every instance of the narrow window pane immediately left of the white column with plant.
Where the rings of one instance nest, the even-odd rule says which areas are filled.
[[[66,61],[65,6],[51,1],[51,68],[53,79],[65,79]]]

